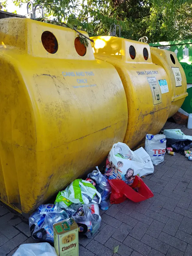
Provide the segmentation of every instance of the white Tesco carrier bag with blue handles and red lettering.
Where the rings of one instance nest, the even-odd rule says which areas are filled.
[[[153,164],[158,165],[164,161],[166,150],[166,138],[164,134],[147,134],[145,150],[149,154]]]

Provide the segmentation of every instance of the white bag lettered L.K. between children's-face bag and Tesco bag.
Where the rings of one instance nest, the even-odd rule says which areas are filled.
[[[154,166],[153,163],[151,161],[151,158],[149,156],[149,154],[145,151],[145,149],[143,147],[140,147],[139,149],[134,151],[137,155],[140,156],[140,158],[143,159],[143,161],[145,162],[145,166],[143,167],[143,169],[138,173],[138,175],[140,177],[142,176],[146,176],[148,174],[151,174],[154,172]]]

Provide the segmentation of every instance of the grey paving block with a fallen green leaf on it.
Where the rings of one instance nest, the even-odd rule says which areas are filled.
[[[114,250],[114,247],[119,245],[119,249],[117,254],[121,255],[121,256],[129,256],[131,255],[133,249],[129,248],[127,245],[122,244],[121,242],[113,239],[112,237],[110,237],[110,239],[105,243],[105,246],[110,248],[112,251]],[[116,255],[116,254],[114,254]]]

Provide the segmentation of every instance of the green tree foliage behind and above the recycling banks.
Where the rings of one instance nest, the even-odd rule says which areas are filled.
[[[27,0],[16,0],[21,6]],[[94,35],[109,35],[110,25],[121,36],[149,42],[192,38],[192,0],[34,0],[49,19],[65,22]]]

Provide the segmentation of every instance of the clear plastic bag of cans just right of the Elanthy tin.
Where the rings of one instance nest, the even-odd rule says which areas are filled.
[[[73,205],[71,205],[71,207],[72,206]],[[101,225],[99,206],[96,203],[81,205],[79,209],[73,213],[72,218],[79,226],[79,234],[84,234],[88,238],[91,238],[98,231]]]

